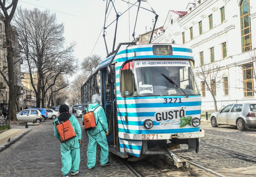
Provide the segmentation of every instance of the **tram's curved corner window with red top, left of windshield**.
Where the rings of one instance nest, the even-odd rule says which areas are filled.
[[[121,94],[123,97],[137,96],[136,82],[134,77],[133,62],[124,65],[121,71]]]

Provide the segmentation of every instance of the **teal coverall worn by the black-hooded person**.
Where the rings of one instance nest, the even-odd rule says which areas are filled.
[[[58,118],[56,118],[54,121],[57,121]],[[75,149],[79,148],[79,142],[78,140],[81,140],[81,127],[79,122],[77,121],[76,117],[71,115],[69,118],[69,121],[72,125],[72,127],[75,130],[76,133],[76,138],[72,138],[70,140],[67,140],[66,143],[62,142],[60,143],[60,153],[62,155],[61,161],[62,161],[62,174],[68,174],[68,172],[71,170],[72,172],[76,172],[79,170],[79,165],[80,165],[80,149]],[[60,135],[54,126],[54,136],[60,140]],[[71,147],[74,148],[71,148]]]

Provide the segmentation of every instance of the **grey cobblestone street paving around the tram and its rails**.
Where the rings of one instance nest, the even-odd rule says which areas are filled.
[[[80,118],[81,119],[81,118]],[[53,136],[53,120],[45,120],[40,126],[25,135],[18,142],[0,152],[0,176],[61,176],[60,143]],[[80,122],[81,123],[81,122]],[[82,126],[82,124],[81,124]],[[232,138],[245,142],[256,142],[255,129],[239,131],[229,126],[213,128],[203,123],[201,128],[205,134]],[[255,154],[253,145],[243,144],[233,140],[221,139],[205,135],[201,142],[220,146],[222,148],[235,148],[244,154],[246,151]],[[115,155],[109,155],[111,165],[100,166],[100,153],[97,153],[96,167],[92,170],[86,168],[88,136],[82,130],[82,147],[80,173],[76,176],[134,176],[134,174]],[[237,146],[236,146],[237,145]],[[181,146],[181,148],[185,147]],[[97,147],[100,151],[100,147]],[[237,151],[236,151],[237,152]],[[237,157],[232,153],[201,146],[200,152],[187,152],[179,154],[194,163],[209,168],[225,176],[253,176],[256,163],[246,158]],[[193,165],[190,168],[177,169],[169,157],[152,155],[138,162],[130,162],[143,176],[214,176]]]

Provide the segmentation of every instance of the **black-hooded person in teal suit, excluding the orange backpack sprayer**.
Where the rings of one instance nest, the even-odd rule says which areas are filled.
[[[75,175],[79,173],[79,165],[80,165],[80,149],[79,145],[81,144],[81,127],[76,117],[69,113],[69,107],[66,104],[60,105],[60,115],[55,121],[67,121],[69,120],[75,133],[76,137],[67,140],[66,142],[61,142],[60,135],[54,125],[54,136],[60,140],[60,153],[62,155],[62,174],[65,177],[68,177],[68,172],[71,170],[71,175]],[[65,135],[65,134],[64,134]],[[77,149],[76,149],[77,148]]]

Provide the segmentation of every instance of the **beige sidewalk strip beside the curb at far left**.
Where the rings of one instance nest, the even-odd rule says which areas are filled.
[[[11,129],[0,134],[0,152],[8,148],[14,142],[18,141],[20,138],[22,138],[22,136],[26,135],[32,129],[34,129],[34,127],[25,128],[25,124],[24,126],[11,125]],[[7,142],[9,138],[11,141]]]

